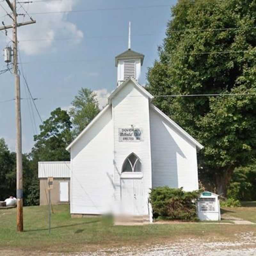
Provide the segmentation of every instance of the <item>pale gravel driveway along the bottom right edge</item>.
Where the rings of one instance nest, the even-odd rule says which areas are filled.
[[[199,239],[189,239],[172,244],[144,245],[141,248],[121,247],[95,253],[77,253],[72,256],[255,256],[256,234],[242,233],[236,242],[202,242]]]

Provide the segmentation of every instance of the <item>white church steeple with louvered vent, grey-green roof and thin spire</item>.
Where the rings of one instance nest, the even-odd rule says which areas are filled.
[[[117,86],[129,77],[138,81],[143,60],[143,54],[131,50],[131,22],[129,22],[128,50],[116,56]]]

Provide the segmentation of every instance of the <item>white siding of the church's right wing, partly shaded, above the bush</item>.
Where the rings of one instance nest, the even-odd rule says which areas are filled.
[[[198,189],[196,146],[150,107],[152,185]]]

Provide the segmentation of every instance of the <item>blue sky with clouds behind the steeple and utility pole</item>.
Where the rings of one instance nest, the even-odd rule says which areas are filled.
[[[167,5],[175,4],[176,0],[35,2],[24,4],[24,8],[37,23],[20,27],[18,39],[22,68],[33,97],[40,98],[36,105],[45,120],[57,107],[68,109],[81,87],[96,91],[100,103],[104,104],[116,87],[115,56],[128,48],[129,21],[132,23],[131,48],[145,54],[140,78],[140,84],[145,84],[147,69],[157,59],[157,46],[162,44],[166,24],[171,18]],[[8,10],[4,2],[1,4]],[[61,12],[71,10],[91,11]],[[19,12],[26,13],[23,9]],[[48,13],[36,14],[38,12]],[[28,20],[28,16],[25,19],[19,16],[19,19],[22,22]],[[1,6],[0,21],[6,25],[12,21]],[[12,36],[11,30],[8,36]],[[9,37],[0,33],[0,49],[10,42]],[[0,70],[4,68],[1,58]],[[21,79],[21,97],[27,98],[26,93]],[[0,137],[11,150],[15,150],[15,102],[3,101],[13,97],[14,78],[12,74],[4,73],[0,75]],[[33,109],[35,125],[29,104],[28,100],[21,102],[23,152],[31,150],[33,135],[39,132],[40,119]]]

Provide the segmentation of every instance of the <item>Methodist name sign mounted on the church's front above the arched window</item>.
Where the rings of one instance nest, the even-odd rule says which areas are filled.
[[[118,128],[118,141],[119,142],[140,142],[142,138],[141,128]]]

